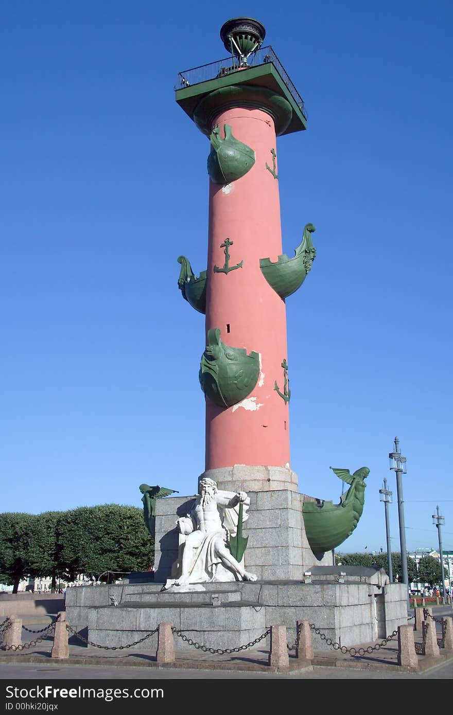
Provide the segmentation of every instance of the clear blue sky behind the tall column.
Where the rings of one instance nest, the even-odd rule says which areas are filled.
[[[173,88],[248,15],[308,111],[278,139],[283,250],[307,222],[318,250],[287,300],[299,490],[336,502],[329,466],[369,466],[340,550],[385,551],[389,478],[398,550],[398,435],[408,548],[437,547],[439,504],[453,549],[452,5],[194,7],[1,3],[0,511],[194,493],[204,320],[177,257],[206,266],[209,144]]]

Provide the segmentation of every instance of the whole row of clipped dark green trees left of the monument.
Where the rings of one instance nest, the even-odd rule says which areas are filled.
[[[79,573],[146,570],[153,543],[142,509],[119,504],[82,506],[42,514],[0,514],[0,573],[4,583],[27,576],[71,581]]]

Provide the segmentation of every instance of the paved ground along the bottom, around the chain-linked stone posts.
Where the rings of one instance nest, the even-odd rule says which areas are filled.
[[[434,608],[434,617],[453,616],[452,608]],[[47,622],[49,622],[47,617]],[[38,631],[43,627],[29,618],[24,625]],[[44,623],[45,625],[45,623]],[[438,636],[441,625],[437,623]],[[39,634],[22,631],[23,643]],[[422,634],[415,633],[419,648]],[[263,641],[265,642],[265,641]],[[380,641],[378,641],[379,644]],[[404,672],[397,664],[397,641],[363,656],[339,651],[317,652],[311,664],[290,657],[290,669],[276,673],[268,666],[268,651],[242,651],[213,655],[196,649],[176,651],[174,664],[158,664],[154,651],[130,649],[106,651],[87,649],[79,641],[69,646],[69,658],[50,658],[52,636],[19,652],[0,651],[0,679],[452,679],[453,651],[442,651],[439,659],[419,656],[419,672]],[[376,644],[365,644],[374,648]]]

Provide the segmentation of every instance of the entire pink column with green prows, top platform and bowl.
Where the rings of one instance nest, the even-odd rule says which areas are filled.
[[[179,74],[176,101],[210,138],[208,267],[178,285],[206,316],[200,385],[205,475],[219,488],[298,490],[290,466],[286,304],[311,269],[314,227],[283,254],[276,137],[306,129],[303,101],[250,18],[226,22],[226,60]]]

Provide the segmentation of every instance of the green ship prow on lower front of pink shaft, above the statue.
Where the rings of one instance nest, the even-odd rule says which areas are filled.
[[[250,395],[258,382],[260,356],[220,340],[220,330],[208,330],[208,345],[201,358],[201,389],[218,407],[231,407]]]

